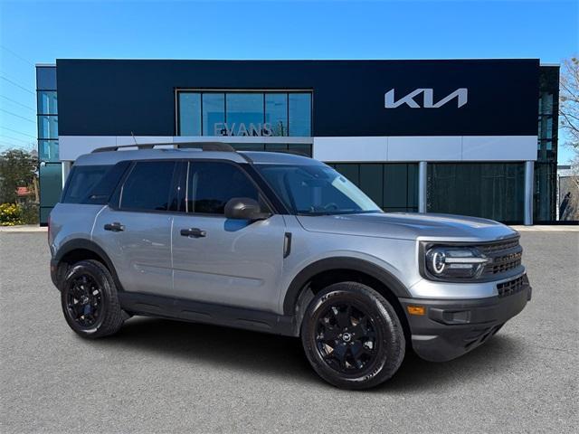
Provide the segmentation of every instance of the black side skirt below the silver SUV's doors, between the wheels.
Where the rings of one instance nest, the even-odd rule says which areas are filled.
[[[127,291],[119,291],[119,302],[124,310],[134,315],[224,325],[274,335],[299,335],[293,316]]]

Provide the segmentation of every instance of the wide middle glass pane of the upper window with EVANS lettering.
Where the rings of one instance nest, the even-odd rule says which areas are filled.
[[[266,136],[263,126],[262,93],[228,93],[225,95],[227,136]]]

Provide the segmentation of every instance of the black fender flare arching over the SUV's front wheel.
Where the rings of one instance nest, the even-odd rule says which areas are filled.
[[[283,314],[289,316],[295,315],[294,310],[298,303],[299,295],[311,278],[325,271],[345,269],[362,272],[375,278],[384,283],[384,286],[390,289],[396,297],[412,297],[408,289],[392,273],[365,259],[348,257],[319,259],[299,271],[298,275],[293,278],[289,284],[289,288],[283,299]]]

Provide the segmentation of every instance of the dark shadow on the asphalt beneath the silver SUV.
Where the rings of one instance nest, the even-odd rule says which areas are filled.
[[[210,363],[298,382],[318,383],[297,338],[245,330],[170,321],[130,319],[118,335],[95,341],[104,346],[138,348],[168,357]],[[469,354],[446,363],[423,361],[410,352],[394,378],[374,392],[433,390],[456,382],[464,375],[492,375],[522,351],[522,344],[508,335],[496,335]],[[327,386],[330,387],[330,386]]]

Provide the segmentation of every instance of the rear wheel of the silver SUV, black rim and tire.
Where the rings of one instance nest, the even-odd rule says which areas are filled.
[[[61,284],[61,304],[71,329],[89,339],[117,333],[126,318],[115,282],[97,260],[81,260],[69,269]]]

